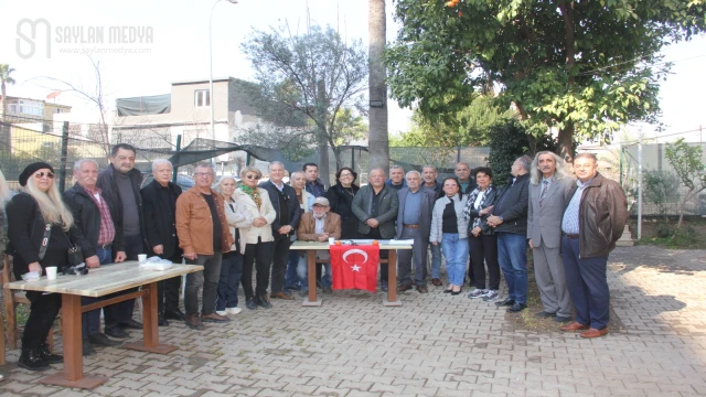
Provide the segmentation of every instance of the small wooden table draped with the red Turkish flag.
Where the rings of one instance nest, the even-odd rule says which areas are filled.
[[[355,242],[355,240],[353,240]],[[329,250],[329,243],[295,242],[289,249],[306,250],[309,269],[309,297],[304,298],[302,305],[319,307],[321,299],[317,298],[317,250]],[[379,249],[387,249],[387,259],[381,259],[381,264],[387,264],[387,296],[383,297],[383,305],[399,307],[397,299],[397,249],[411,249],[411,244],[395,240],[379,240]]]

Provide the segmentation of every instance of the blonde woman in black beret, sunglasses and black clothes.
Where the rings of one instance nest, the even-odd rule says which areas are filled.
[[[45,162],[28,165],[20,174],[20,185],[23,186],[21,193],[12,197],[7,207],[8,251],[13,256],[18,280],[30,271],[42,276],[49,266],[64,268],[67,265],[68,234],[72,240],[76,237],[74,218],[54,184],[52,165]],[[22,354],[18,364],[31,371],[47,369],[50,364],[64,360],[52,354],[46,344],[49,331],[62,307],[62,297],[28,291],[26,298],[32,305],[22,334]]]

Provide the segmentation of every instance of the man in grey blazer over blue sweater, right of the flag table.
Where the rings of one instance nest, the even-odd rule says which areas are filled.
[[[436,193],[421,186],[421,174],[409,171],[407,187],[397,192],[397,239],[413,239],[413,249],[403,249],[397,257],[399,292],[411,289],[411,258],[415,260],[415,285],[419,293],[427,293],[427,245],[431,233],[431,213]]]

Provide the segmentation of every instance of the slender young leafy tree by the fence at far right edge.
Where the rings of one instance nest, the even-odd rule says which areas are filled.
[[[674,168],[682,184],[687,189],[677,204],[680,222],[676,224],[676,230],[678,230],[682,227],[682,221],[684,221],[684,206],[686,203],[706,190],[706,165],[702,161],[700,143],[688,144],[684,141],[684,138],[667,144],[665,157]],[[676,233],[674,236],[676,236]]]

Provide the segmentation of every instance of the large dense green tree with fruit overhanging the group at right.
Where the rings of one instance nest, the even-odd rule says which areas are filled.
[[[655,122],[660,51],[706,26],[703,0],[398,0],[388,84],[425,115],[466,107],[475,90],[514,104],[534,137],[609,139],[630,121]]]

